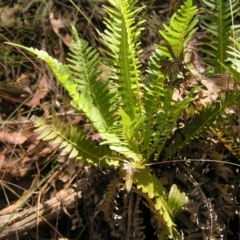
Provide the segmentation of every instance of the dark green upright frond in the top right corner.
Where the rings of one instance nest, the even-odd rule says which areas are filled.
[[[203,42],[203,51],[209,55],[204,58],[213,68],[214,73],[224,73],[221,63],[227,59],[228,47],[231,44],[232,20],[238,14],[239,0],[202,0],[204,14],[201,16],[201,26],[207,31]],[[230,7],[230,4],[232,5]],[[233,10],[231,12],[231,9]]]

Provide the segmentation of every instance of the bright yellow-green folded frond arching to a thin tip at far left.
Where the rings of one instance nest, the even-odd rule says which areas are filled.
[[[107,143],[113,151],[116,151],[127,158],[132,158],[136,162],[141,162],[140,155],[131,151],[128,146],[126,146],[126,144],[124,144],[114,133],[108,131],[106,122],[102,118],[98,108],[93,104],[93,99],[90,95],[89,85],[87,83],[83,86],[79,86],[75,83],[75,81],[71,78],[69,67],[52,58],[48,55],[48,53],[17,44],[12,45],[18,46],[35,54],[38,58],[44,60],[49,65],[59,82],[68,91],[70,97],[72,98],[72,106],[78,111],[85,113],[93,127],[105,139],[105,141],[101,143],[102,145]]]

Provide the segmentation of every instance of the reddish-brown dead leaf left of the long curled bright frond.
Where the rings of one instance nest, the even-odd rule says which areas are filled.
[[[40,100],[46,96],[50,89],[46,76],[43,76],[38,84],[38,90],[33,95],[32,99],[27,103],[29,107],[36,107],[40,104]]]

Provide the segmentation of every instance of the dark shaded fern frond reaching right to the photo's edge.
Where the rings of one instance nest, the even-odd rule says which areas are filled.
[[[166,150],[166,159],[200,135],[204,136],[211,127],[214,128],[217,124],[221,124],[226,115],[225,109],[236,105],[239,101],[240,92],[233,92],[231,95],[222,97],[220,103],[209,104],[193,120],[185,122],[184,128],[181,129],[181,134],[176,135],[174,142]]]

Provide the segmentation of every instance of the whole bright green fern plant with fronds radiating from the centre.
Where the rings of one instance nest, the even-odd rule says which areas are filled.
[[[156,45],[149,69],[142,73],[139,36],[144,22],[136,22],[135,18],[144,7],[135,8],[136,3],[137,0],[109,0],[109,5],[104,6],[106,30],[101,40],[107,59],[101,59],[96,50],[80,39],[74,27],[68,64],[60,63],[44,51],[15,46],[30,51],[49,65],[68,91],[72,106],[85,114],[103,141],[98,144],[86,139],[81,129],[59,125],[56,118],[51,126],[43,119],[36,120],[36,131],[41,131],[39,139],[58,143],[62,154],[69,154],[70,158],[82,159],[95,166],[101,160],[106,167],[123,169],[127,191],[136,184],[154,214],[161,216],[157,219],[163,219],[165,228],[160,239],[166,235],[181,239],[174,218],[181,211],[185,194],[173,185],[167,198],[149,165],[152,160],[167,160],[221,122],[225,108],[240,96],[225,96],[222,105],[204,109],[191,124],[186,122],[183,134],[177,134],[173,144],[167,146],[176,123],[199,88],[192,88],[181,100],[173,100],[172,84],[188,77],[184,67],[179,66],[182,66],[186,44],[197,30],[197,8],[192,0],[186,0],[172,16],[169,26],[164,25],[164,30],[160,31],[164,43]],[[101,77],[100,65],[110,70],[109,76]],[[163,150],[166,154],[162,158]]]

